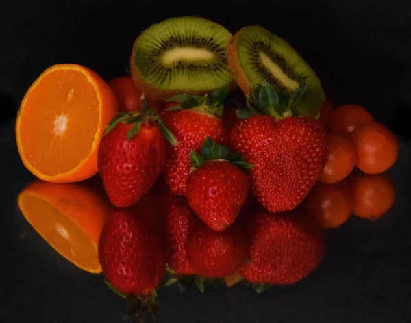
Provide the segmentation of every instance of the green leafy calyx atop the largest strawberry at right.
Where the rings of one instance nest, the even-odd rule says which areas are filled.
[[[246,105],[248,109],[238,110],[238,118],[249,118],[256,114],[266,114],[276,119],[284,119],[290,116],[299,116],[297,105],[306,95],[307,83],[301,85],[292,93],[290,99],[269,85],[266,81],[250,88]]]

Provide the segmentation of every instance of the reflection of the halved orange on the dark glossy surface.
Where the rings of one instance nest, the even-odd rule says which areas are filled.
[[[60,255],[87,272],[100,273],[98,244],[108,203],[82,183],[36,181],[18,196],[32,227]]]

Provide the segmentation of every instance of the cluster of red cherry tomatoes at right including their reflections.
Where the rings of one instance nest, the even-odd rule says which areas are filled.
[[[326,100],[319,120],[328,129],[329,157],[302,207],[326,228],[340,226],[351,214],[379,218],[395,201],[385,172],[397,160],[397,138],[360,105],[334,111]]]

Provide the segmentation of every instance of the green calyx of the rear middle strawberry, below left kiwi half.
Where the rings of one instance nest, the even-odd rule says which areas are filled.
[[[177,94],[167,99],[167,102],[176,102],[166,111],[176,111],[181,109],[195,109],[201,113],[208,113],[214,116],[221,117],[223,115],[223,101],[227,98],[229,86],[223,86],[204,96]]]

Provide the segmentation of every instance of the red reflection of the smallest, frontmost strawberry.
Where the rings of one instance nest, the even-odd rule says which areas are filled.
[[[216,232],[200,223],[189,235],[186,251],[196,274],[206,278],[223,278],[245,263],[248,242],[237,226]]]

